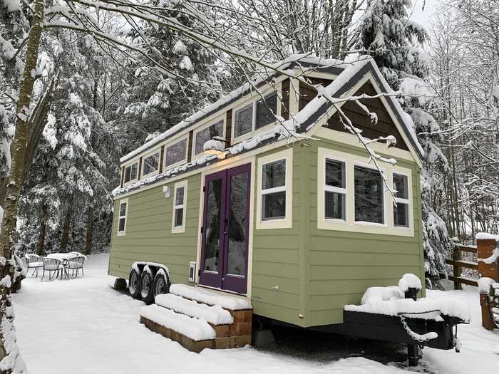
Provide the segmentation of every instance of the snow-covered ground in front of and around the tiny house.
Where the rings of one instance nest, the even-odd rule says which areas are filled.
[[[200,370],[217,374],[407,373],[400,364],[384,365],[363,357],[314,360],[307,357],[306,352],[290,354],[279,348],[190,353],[138,323],[143,303],[110,289],[107,264],[107,254],[96,254],[88,258],[84,278],[23,281],[21,293],[14,296],[16,328],[21,353],[32,374],[194,373]],[[461,353],[425,348],[423,365],[416,370],[438,374],[480,374],[497,370],[499,331],[492,333],[480,327],[476,289],[428,294],[435,298],[453,295],[470,303],[473,322],[459,328]],[[314,350],[314,343],[307,341],[308,351]],[[397,354],[400,357],[400,352]]]

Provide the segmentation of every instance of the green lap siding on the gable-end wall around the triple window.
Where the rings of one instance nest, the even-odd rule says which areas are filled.
[[[319,147],[363,155],[359,147],[331,140],[312,142],[310,151],[309,237],[307,240],[307,326],[341,323],[345,304],[361,301],[366,288],[393,286],[403,274],[424,281],[421,237],[421,192],[416,162],[397,160],[411,169],[413,237],[317,229],[317,150]],[[391,204],[391,201],[389,201]],[[424,294],[424,290],[423,290]]]

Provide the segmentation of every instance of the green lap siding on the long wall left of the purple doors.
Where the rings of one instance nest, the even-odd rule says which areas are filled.
[[[199,232],[201,175],[187,178],[187,207],[185,232],[172,233],[175,183],[169,183],[170,198],[166,199],[163,186],[139,191],[128,196],[126,234],[116,234],[118,215],[113,218],[109,274],[128,279],[134,261],[152,261],[166,264],[173,283],[187,283],[189,262],[196,260]],[[120,199],[115,201],[118,212]]]

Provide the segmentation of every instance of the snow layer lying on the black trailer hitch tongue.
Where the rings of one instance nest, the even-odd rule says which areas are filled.
[[[470,308],[463,301],[456,298],[392,298],[391,300],[369,300],[362,305],[346,305],[346,311],[357,311],[364,313],[384,314],[386,316],[398,316],[403,314],[407,318],[423,318],[441,321],[441,313],[446,316],[458,317],[463,321],[470,321]]]

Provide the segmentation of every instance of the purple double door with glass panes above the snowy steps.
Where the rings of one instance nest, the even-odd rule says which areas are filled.
[[[206,176],[200,284],[246,294],[251,165]]]

